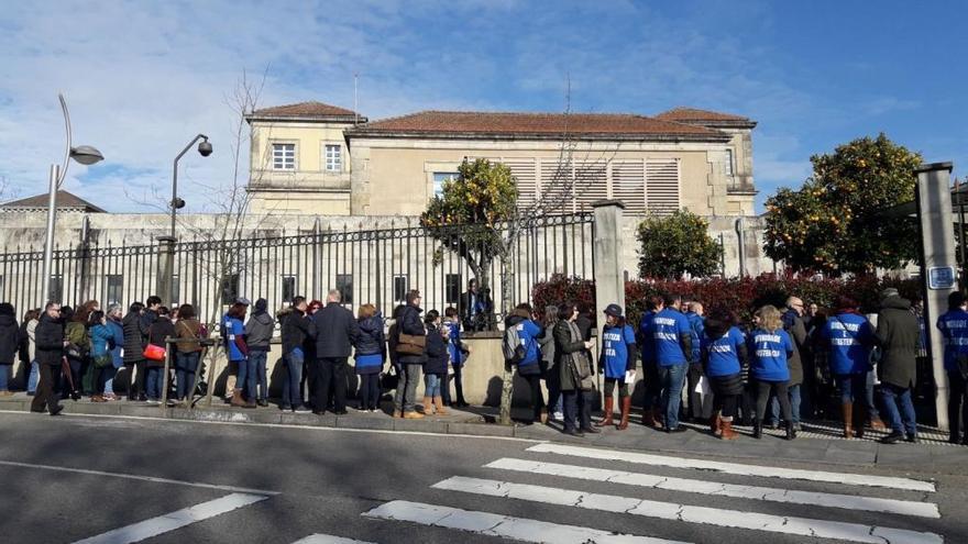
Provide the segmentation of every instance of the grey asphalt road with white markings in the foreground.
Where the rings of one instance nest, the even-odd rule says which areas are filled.
[[[919,467],[26,413],[0,413],[0,437],[10,544],[968,542],[968,468],[933,481]]]

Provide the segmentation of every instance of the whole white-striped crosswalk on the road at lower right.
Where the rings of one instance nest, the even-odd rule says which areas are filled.
[[[431,486],[432,489],[488,498],[498,501],[522,501],[531,504],[593,510],[664,520],[690,525],[685,534],[698,534],[696,526],[713,525],[749,531],[755,535],[792,535],[814,541],[859,542],[876,544],[942,544],[939,534],[914,529],[891,526],[899,519],[941,519],[936,503],[927,499],[936,491],[931,481],[912,478],[845,474],[823,470],[803,470],[768,465],[723,463],[705,459],[600,449],[553,443],[529,447],[525,453],[560,457],[565,463],[534,458],[499,458],[483,466],[493,478],[454,475]],[[588,466],[590,462],[614,462],[615,468]],[[662,474],[628,470],[626,465],[675,470],[696,475],[719,474],[739,476],[745,480],[767,480],[770,487],[737,485],[707,480],[703,477],[680,478]],[[647,468],[648,469],[648,468]],[[668,471],[668,470],[667,470]],[[548,484],[532,485],[515,481],[516,476],[547,477]],[[605,495],[580,488],[581,482],[607,482],[619,486],[622,493]],[[798,485],[836,485],[840,492],[799,490]],[[789,486],[789,487],[781,487]],[[650,500],[648,490],[663,490],[692,497],[689,503]],[[905,495],[906,498],[878,497],[878,493]],[[448,495],[449,497],[452,495]],[[749,510],[700,506],[702,496],[730,497],[748,502]],[[696,499],[698,497],[698,499]],[[791,504],[791,514],[756,511],[755,503]],[[804,508],[810,507],[810,508]],[[812,507],[833,509],[824,514]],[[522,509],[527,511],[527,509]],[[774,510],[774,509],[771,509]],[[882,514],[884,524],[840,521],[840,515],[854,519],[857,512]],[[804,515],[813,513],[813,517]],[[487,511],[471,511],[447,504],[393,500],[363,513],[365,518],[387,522],[405,522],[422,526],[444,528],[483,535],[535,543],[669,543],[678,542],[648,534],[620,534],[603,528],[557,524],[541,520],[521,519]],[[574,519],[590,520],[575,514]],[[921,526],[909,523],[909,526]],[[640,525],[647,526],[647,525]],[[696,542],[707,542],[698,540]]]

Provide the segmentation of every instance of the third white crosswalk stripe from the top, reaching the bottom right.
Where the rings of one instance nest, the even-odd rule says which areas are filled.
[[[839,521],[811,520],[806,518],[744,512],[739,510],[721,510],[717,508],[586,493],[572,489],[529,486],[525,484],[481,478],[465,478],[461,476],[449,478],[435,484],[431,487],[488,497],[504,497],[508,499],[542,502],[546,504],[576,507],[587,510],[628,513],[646,518],[794,534],[799,536],[836,539],[840,541],[872,544],[884,544],[886,542],[890,542],[891,544],[944,543],[944,539],[935,533],[922,533],[903,529],[861,525]]]

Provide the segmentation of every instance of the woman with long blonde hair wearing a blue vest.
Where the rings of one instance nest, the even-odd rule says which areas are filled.
[[[780,400],[780,411],[787,422],[787,440],[796,437],[793,419],[790,417],[790,368],[787,358],[793,355],[793,341],[783,330],[783,320],[777,307],[767,304],[754,317],[756,329],[749,333],[749,374],[756,381],[757,412],[754,421],[754,438],[763,436],[763,415],[770,393]]]

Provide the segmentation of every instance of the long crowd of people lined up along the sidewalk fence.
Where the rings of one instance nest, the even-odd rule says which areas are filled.
[[[702,421],[716,436],[733,440],[739,421],[751,423],[756,438],[766,426],[782,425],[793,440],[802,413],[823,411],[828,384],[839,399],[845,437],[862,436],[868,426],[886,429],[883,414],[891,430],[884,442],[916,442],[912,393],[924,324],[919,304],[894,289],[881,295],[880,311],[870,319],[848,298],[821,312],[791,297],[783,308],[759,308],[749,323],[715,304],[706,314],[702,301],[675,295],[649,298],[637,324],[609,304],[597,359],[587,308],[563,302],[537,312],[522,303],[505,318],[502,346],[528,385],[529,422],[560,421],[575,436],[612,425],[627,429],[632,390],[640,384],[645,425],[678,433],[684,431],[681,420]],[[377,411],[389,390],[397,418],[466,407],[462,368],[471,351],[461,335],[485,326],[491,301],[472,281],[461,302],[442,315],[424,312],[420,292],[413,290],[386,320],[373,304],[361,306],[354,315],[341,303],[339,290],[330,291],[324,303],[295,297],[275,314],[265,299],[252,304],[239,298],[220,320],[216,340],[229,360],[226,401],[250,409],[268,406],[268,353],[278,330],[283,410],[346,413],[351,371],[361,411]],[[960,443],[968,440],[960,433],[968,421],[968,302],[963,293],[950,296],[936,326],[945,341],[950,440]],[[14,308],[0,303],[0,396],[10,395],[11,368],[19,358],[29,369],[25,389],[35,412],[56,415],[62,400],[82,396],[91,402],[120,400],[114,381],[122,368],[127,380],[119,389],[130,401],[160,403],[166,382],[173,403],[190,401],[204,382],[202,355],[210,336],[191,304],[169,309],[154,296],[132,303],[127,313],[118,304],[101,310],[94,300],[76,309],[48,302],[28,311],[20,323]],[[600,395],[604,417],[593,423]]]

